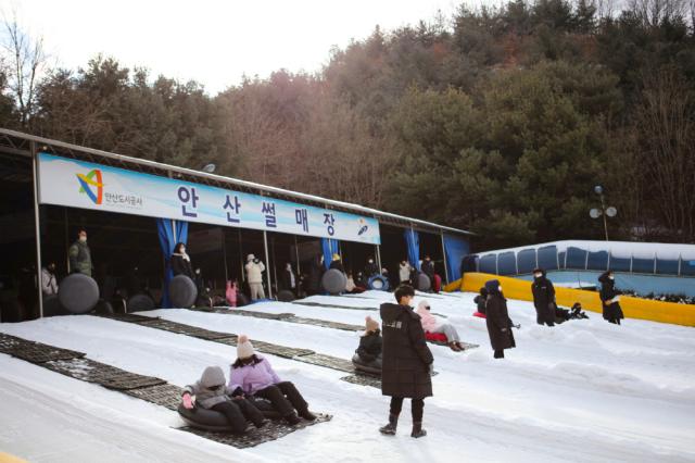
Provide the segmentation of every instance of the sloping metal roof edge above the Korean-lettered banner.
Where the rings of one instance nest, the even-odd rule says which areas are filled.
[[[231,186],[235,190],[238,191],[263,195],[276,199],[285,199],[290,201],[299,200],[302,203],[308,205],[316,205],[319,208],[327,208],[336,211],[368,215],[370,217],[377,218],[380,223],[383,223],[386,225],[393,225],[400,228],[414,228],[435,235],[440,235],[444,232],[456,235],[475,235],[471,232],[446,227],[431,222],[406,217],[399,214],[392,214],[390,212],[383,212],[371,208],[365,208],[358,204],[320,198],[313,195],[276,188],[267,185],[256,184],[253,182],[241,180],[238,178],[207,174],[205,172],[199,172],[191,168],[178,167],[175,165],[164,164],[155,161],[111,153],[93,148],[79,147],[77,145],[66,143],[64,141],[52,140],[49,138],[23,134],[21,132],[0,128],[0,151],[2,152],[30,158],[33,155],[33,143],[39,152],[47,152],[49,154],[61,155],[64,158],[105,164],[113,167],[121,167],[162,177],[177,178],[186,182],[204,184],[219,188],[229,188]]]

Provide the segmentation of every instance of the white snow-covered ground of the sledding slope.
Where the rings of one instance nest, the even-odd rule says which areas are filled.
[[[517,349],[493,360],[472,293],[432,296],[462,338],[479,349],[431,346],[434,397],[424,439],[409,437],[408,401],[399,434],[379,435],[388,398],[339,380],[345,373],[268,355],[312,410],[334,415],[249,450],[172,429],[175,412],[0,354],[0,451],[29,461],[695,462],[695,331],[644,321],[614,326],[590,313],[555,328],[536,326],[528,302],[509,301]],[[314,302],[377,308],[393,296],[314,297]],[[419,301],[416,298],[416,303]],[[378,312],[262,303],[263,312],[364,323]],[[286,322],[160,310],[162,316],[252,339],[349,359],[359,333]],[[0,324],[0,331],[86,352],[90,359],[185,386],[207,365],[228,372],[233,348],[94,316]]]

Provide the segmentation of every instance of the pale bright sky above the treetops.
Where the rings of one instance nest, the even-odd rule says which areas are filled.
[[[378,24],[393,29],[437,11],[451,16],[453,0],[0,0],[14,8],[33,36],[42,36],[53,62],[76,70],[98,53],[153,76],[195,79],[216,93],[243,74],[319,71],[332,46],[363,39]]]

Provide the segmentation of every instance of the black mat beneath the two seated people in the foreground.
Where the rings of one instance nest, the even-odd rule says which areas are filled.
[[[313,422],[302,420],[298,425],[294,426],[287,424],[285,420],[274,420],[267,423],[261,429],[256,429],[253,425],[251,425],[247,428],[247,433],[242,435],[236,435],[231,433],[214,433],[210,430],[198,429],[192,426],[185,426],[178,429],[195,434],[198,436],[214,440],[219,443],[236,447],[237,449],[248,449],[251,447],[256,447],[264,442],[279,439],[290,433],[298,431],[307,426],[326,423],[332,420],[331,415],[326,415],[323,413],[317,413],[316,416],[316,420],[314,420]]]

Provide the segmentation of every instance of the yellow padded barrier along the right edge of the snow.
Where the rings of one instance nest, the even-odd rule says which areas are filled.
[[[445,291],[478,292],[485,281],[498,279],[504,295],[509,299],[533,301],[531,281],[506,276],[491,275],[486,273],[466,273],[460,279],[446,285]],[[598,292],[581,289],[555,287],[555,297],[558,305],[572,306],[574,302],[581,302],[584,310],[602,313],[602,302]],[[677,304],[673,302],[653,301],[648,299],[620,297],[620,306],[628,318],[649,320],[652,322],[672,323],[674,325],[695,326],[695,305]]]

